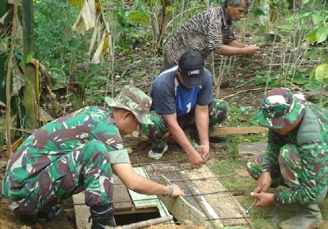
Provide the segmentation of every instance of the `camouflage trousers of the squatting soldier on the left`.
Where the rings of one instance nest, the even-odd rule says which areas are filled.
[[[38,175],[38,184],[28,196],[11,200],[17,213],[36,214],[73,194],[85,190],[88,206],[109,204],[112,199],[112,169],[103,143],[92,140],[61,156]]]

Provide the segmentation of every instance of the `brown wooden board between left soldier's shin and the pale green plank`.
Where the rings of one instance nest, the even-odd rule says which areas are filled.
[[[129,192],[122,181],[116,176],[113,176],[114,193],[112,202],[129,201],[131,200]],[[114,203],[115,211],[133,209],[132,202]]]

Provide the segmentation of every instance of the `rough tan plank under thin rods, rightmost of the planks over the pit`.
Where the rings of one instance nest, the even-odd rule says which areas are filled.
[[[203,165],[199,169],[185,170],[185,172],[191,179],[216,176],[206,165]],[[208,180],[193,180],[193,184],[196,186],[200,193],[227,191],[227,189],[218,179],[211,179],[211,182]],[[207,200],[207,202],[211,203],[211,207],[214,209],[219,218],[243,217],[241,212],[244,212],[244,209],[237,201],[233,199],[233,196],[229,195],[229,193],[222,192],[212,195],[204,195],[203,197]],[[245,219],[226,219],[222,220],[222,223],[224,226],[248,224],[247,220]]]

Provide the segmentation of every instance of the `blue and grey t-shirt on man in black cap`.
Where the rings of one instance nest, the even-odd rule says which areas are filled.
[[[186,88],[177,79],[177,65],[161,72],[150,91],[151,110],[160,114],[183,116],[195,109],[196,104],[206,106],[213,102],[212,75],[204,68],[201,86]]]

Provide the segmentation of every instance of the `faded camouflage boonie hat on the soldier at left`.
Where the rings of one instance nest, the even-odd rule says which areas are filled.
[[[152,98],[134,86],[124,86],[116,98],[105,98],[109,106],[130,110],[140,123],[154,124],[150,119],[149,109]]]

